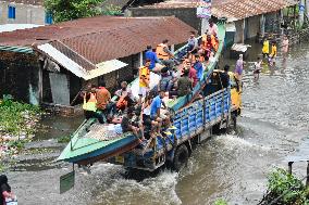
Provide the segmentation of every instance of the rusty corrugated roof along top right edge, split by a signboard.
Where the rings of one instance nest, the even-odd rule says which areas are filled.
[[[146,5],[148,9],[177,9],[197,8],[199,0],[169,0],[153,5]],[[288,5],[297,4],[297,0],[212,0],[212,15],[227,17],[231,21],[270,13]]]

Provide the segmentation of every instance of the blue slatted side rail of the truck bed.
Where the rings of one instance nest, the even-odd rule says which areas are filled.
[[[193,102],[173,114],[174,134],[157,140],[157,152],[172,150],[188,139],[210,129],[224,120],[231,110],[231,89],[219,90],[201,100]]]

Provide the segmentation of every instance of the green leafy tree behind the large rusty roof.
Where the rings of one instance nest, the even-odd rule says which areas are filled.
[[[44,5],[54,22],[91,17],[102,13],[104,0],[45,0]]]

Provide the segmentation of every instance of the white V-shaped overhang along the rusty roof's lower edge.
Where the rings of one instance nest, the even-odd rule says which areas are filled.
[[[75,61],[71,60],[58,49],[52,47],[50,43],[40,44],[37,47],[37,49],[39,50],[39,52],[45,53],[54,62],[59,63],[64,68],[72,72],[74,75],[85,80],[89,80],[98,76],[118,71],[127,65],[119,60],[111,60],[97,64],[95,69],[87,71]]]

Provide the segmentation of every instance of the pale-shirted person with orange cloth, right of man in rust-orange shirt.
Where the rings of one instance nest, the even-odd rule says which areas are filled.
[[[116,102],[116,108],[119,111],[124,111],[126,107],[135,104],[134,95],[132,90],[127,87],[126,81],[121,82],[121,89],[115,91],[115,95],[119,97]]]

